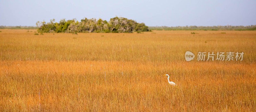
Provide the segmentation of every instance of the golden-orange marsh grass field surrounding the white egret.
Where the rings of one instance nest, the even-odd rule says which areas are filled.
[[[256,111],[256,31],[0,31],[0,111]]]

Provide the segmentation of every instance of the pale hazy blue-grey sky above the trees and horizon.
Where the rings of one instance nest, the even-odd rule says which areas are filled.
[[[115,16],[147,26],[256,25],[256,0],[0,0],[0,25]]]

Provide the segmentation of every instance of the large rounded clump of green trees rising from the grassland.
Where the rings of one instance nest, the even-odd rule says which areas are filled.
[[[53,19],[48,23],[38,21],[36,26],[39,33],[132,33],[134,31],[139,33],[149,31],[144,23],[137,23],[122,17],[111,18],[109,21],[84,18],[80,22],[75,19],[55,22]]]

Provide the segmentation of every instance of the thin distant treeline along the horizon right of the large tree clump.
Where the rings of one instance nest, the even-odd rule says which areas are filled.
[[[149,27],[150,30],[256,30],[256,25],[251,26],[178,26],[178,27]]]

